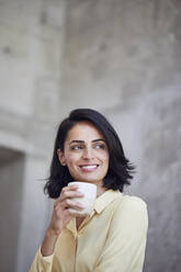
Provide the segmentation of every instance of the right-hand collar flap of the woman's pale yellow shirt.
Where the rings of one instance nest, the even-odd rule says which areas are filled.
[[[100,214],[111,202],[113,202],[120,195],[122,195],[122,193],[118,190],[105,191],[95,200],[95,205],[94,205],[95,212]]]

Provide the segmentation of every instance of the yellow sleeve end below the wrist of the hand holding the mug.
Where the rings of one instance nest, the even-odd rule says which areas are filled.
[[[48,257],[43,257],[39,248],[32,263],[30,272],[52,272],[53,260],[54,260],[54,254],[50,254]]]

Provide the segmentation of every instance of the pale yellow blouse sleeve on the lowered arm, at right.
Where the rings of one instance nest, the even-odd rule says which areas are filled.
[[[108,239],[93,272],[142,272],[147,239],[147,205],[126,199],[114,212]]]

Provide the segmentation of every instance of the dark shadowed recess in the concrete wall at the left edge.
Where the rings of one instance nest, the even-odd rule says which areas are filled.
[[[22,209],[24,155],[0,147],[0,271],[16,267]]]

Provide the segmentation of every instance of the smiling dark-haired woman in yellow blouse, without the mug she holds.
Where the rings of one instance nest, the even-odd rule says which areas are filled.
[[[30,272],[140,272],[147,237],[147,207],[123,194],[133,178],[121,140],[106,118],[78,109],[57,133],[50,175],[45,185],[56,199],[42,247]],[[90,216],[81,215],[82,197],[70,181],[97,185]]]

